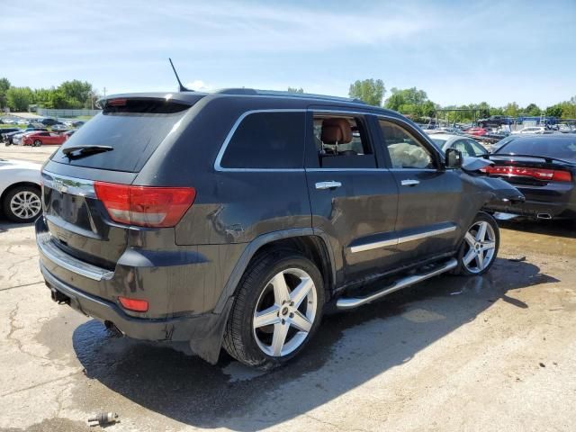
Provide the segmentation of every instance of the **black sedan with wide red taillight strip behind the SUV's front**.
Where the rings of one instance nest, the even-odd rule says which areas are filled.
[[[576,219],[576,136],[512,135],[492,149],[494,166],[483,170],[504,178],[526,202],[495,210],[537,219]]]

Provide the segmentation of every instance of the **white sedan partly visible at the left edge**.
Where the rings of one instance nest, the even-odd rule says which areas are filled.
[[[31,222],[42,211],[40,164],[0,159],[0,206],[14,222]]]

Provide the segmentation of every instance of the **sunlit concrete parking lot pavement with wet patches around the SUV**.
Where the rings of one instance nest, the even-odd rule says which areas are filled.
[[[54,148],[0,148],[41,162]],[[444,275],[326,317],[269,373],[116,338],[51,302],[31,225],[0,219],[0,430],[570,430],[576,234],[508,222],[485,276]]]

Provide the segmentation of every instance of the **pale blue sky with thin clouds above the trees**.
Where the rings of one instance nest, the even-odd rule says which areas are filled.
[[[546,106],[576,95],[576,1],[3,2],[0,76],[103,92],[184,83],[347,95],[356,79],[436,103]]]

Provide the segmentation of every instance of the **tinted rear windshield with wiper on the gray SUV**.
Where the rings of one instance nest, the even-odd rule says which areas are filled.
[[[73,166],[138,172],[189,108],[190,105],[182,103],[130,100],[106,106],[102,113],[76,130],[52,160]],[[76,146],[110,146],[113,150],[77,159],[68,159],[62,153],[62,149]]]

